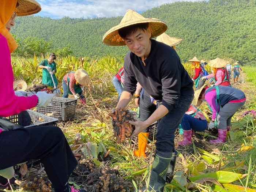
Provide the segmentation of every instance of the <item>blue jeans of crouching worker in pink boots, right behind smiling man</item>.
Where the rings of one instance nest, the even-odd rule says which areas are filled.
[[[184,130],[193,130],[193,131],[204,131],[207,129],[207,121],[202,119],[197,119],[188,114],[184,114],[181,120],[181,126]]]

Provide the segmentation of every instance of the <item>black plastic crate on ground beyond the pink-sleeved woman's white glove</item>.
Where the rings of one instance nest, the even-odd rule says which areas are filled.
[[[46,107],[37,107],[39,113],[53,113],[53,117],[65,121],[75,117],[77,99],[53,97]]]

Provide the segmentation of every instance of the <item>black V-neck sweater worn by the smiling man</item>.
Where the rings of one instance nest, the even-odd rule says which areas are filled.
[[[177,105],[181,95],[193,95],[193,81],[181,64],[176,51],[151,39],[151,50],[144,64],[129,51],[124,59],[124,90],[133,95],[136,84],[141,86],[169,111]]]

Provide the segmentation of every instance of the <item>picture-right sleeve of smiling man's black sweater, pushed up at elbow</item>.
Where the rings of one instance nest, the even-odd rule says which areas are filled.
[[[169,54],[161,68],[162,105],[169,111],[177,106],[181,89],[181,62],[175,54]]]

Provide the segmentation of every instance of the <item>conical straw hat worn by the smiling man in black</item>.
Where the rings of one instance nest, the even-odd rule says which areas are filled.
[[[162,20],[155,18],[144,18],[136,11],[127,10],[121,22],[105,33],[102,39],[103,43],[112,46],[125,45],[124,39],[118,34],[118,30],[138,23],[149,23],[151,29],[150,38],[157,37],[167,30],[167,25]]]

